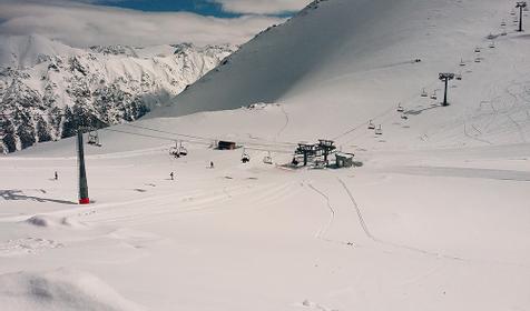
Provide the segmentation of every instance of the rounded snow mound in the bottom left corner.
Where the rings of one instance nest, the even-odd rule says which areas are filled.
[[[49,273],[0,275],[2,310],[144,310],[96,277],[59,269]]]

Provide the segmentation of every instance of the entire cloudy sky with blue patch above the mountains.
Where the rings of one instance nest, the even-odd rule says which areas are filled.
[[[0,0],[0,34],[73,47],[243,43],[310,0]]]

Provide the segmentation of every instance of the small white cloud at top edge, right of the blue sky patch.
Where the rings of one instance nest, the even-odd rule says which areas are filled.
[[[223,10],[243,14],[281,14],[295,12],[307,6],[310,0],[212,0]]]

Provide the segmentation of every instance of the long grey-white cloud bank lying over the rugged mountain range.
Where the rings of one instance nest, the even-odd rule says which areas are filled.
[[[282,21],[258,16],[223,19],[188,12],[141,12],[71,1],[0,0],[0,34],[38,33],[72,47],[238,44]]]

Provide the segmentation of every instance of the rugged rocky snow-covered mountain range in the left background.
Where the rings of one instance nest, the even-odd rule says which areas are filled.
[[[84,50],[41,36],[0,42],[0,128],[8,152],[70,137],[78,124],[136,120],[235,50],[188,43]]]

